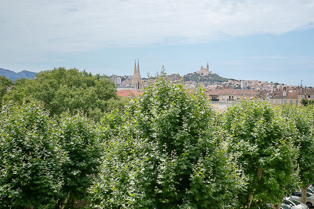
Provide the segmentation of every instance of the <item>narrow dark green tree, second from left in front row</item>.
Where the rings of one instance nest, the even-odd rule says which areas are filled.
[[[84,198],[100,166],[100,147],[95,124],[77,114],[60,119],[55,131],[61,163],[61,200]],[[61,202],[62,202],[61,201]],[[61,203],[60,203],[61,204]]]

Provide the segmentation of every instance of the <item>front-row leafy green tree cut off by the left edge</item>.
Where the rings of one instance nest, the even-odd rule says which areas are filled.
[[[0,114],[0,208],[52,208],[60,169],[47,113],[35,103]]]

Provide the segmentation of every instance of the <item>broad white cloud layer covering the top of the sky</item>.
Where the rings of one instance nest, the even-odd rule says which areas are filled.
[[[204,43],[314,27],[314,1],[0,0],[3,55]],[[28,56],[25,56],[28,54]]]

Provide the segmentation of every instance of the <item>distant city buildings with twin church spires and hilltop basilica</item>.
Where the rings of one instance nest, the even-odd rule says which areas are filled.
[[[225,111],[232,102],[244,100],[264,99],[273,105],[300,105],[302,99],[314,100],[314,88],[303,87],[302,81],[300,85],[285,85],[268,81],[226,79],[209,71],[208,63],[206,68],[201,66],[200,70],[193,73],[184,76],[171,74],[166,77],[174,83],[183,81],[186,89],[203,86],[205,95],[217,111]],[[141,94],[145,86],[156,79],[141,78],[139,62],[137,65],[135,62],[133,76],[111,75],[109,78],[116,84],[118,95],[130,98]]]

